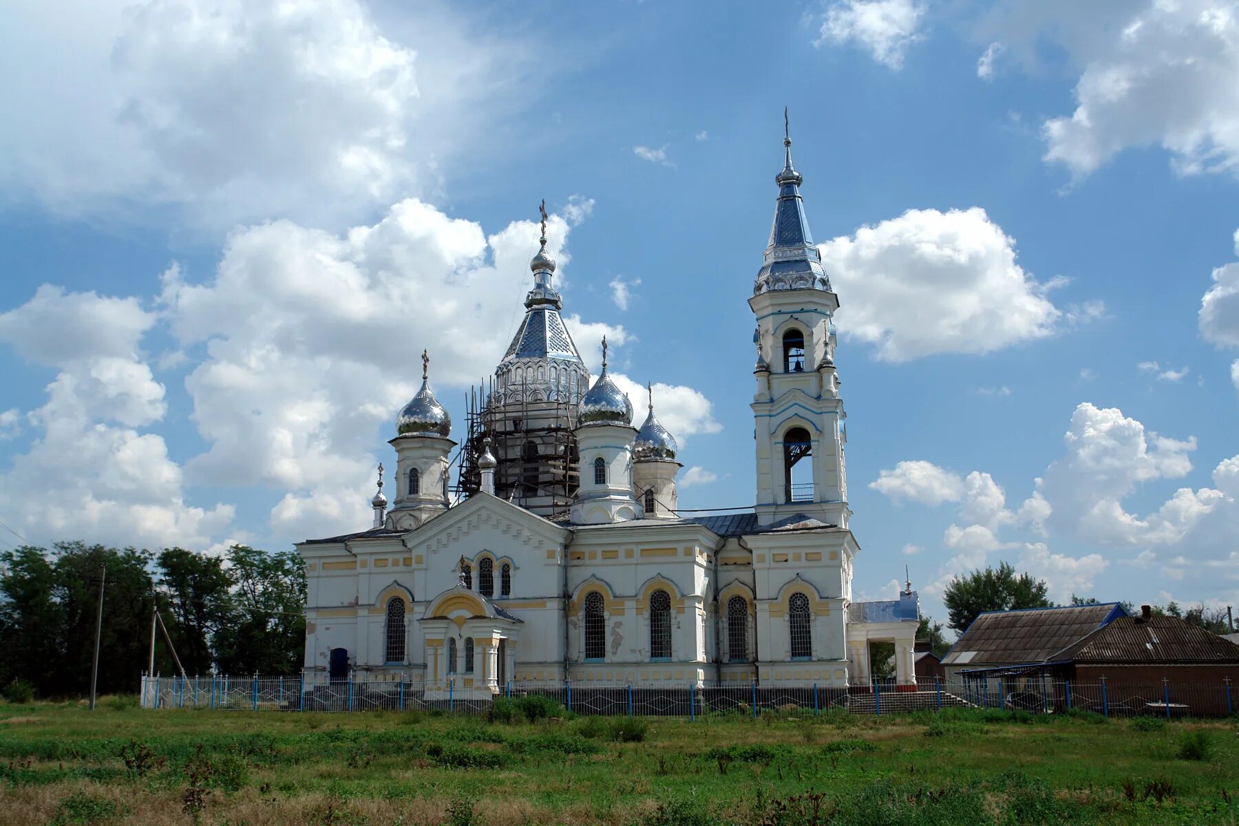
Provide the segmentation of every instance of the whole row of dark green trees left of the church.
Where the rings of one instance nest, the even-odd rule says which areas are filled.
[[[100,583],[99,693],[138,690],[156,606],[191,676],[301,667],[306,578],[296,552],[234,545],[214,556],[57,542],[0,554],[0,685],[21,680],[50,697],[89,691]],[[176,674],[156,633],[155,671]]]

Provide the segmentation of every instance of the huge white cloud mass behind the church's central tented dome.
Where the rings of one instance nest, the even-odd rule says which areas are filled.
[[[560,289],[571,271],[570,225],[558,214],[548,222]],[[271,511],[281,536],[366,525],[375,436],[413,394],[418,354],[429,348],[431,384],[449,405],[453,388],[493,372],[520,321],[536,238],[529,220],[487,235],[408,199],[343,234],[286,220],[240,229],[206,282],[171,272],[161,296],[171,329],[188,352],[204,348],[186,388],[209,447],[190,459],[190,477],[285,492]],[[629,339],[574,313],[565,322],[595,370],[603,334],[613,347]],[[643,385],[612,376],[639,410]],[[654,400],[681,443],[720,428],[693,388],[655,384]],[[456,422],[457,441],[463,426]]]

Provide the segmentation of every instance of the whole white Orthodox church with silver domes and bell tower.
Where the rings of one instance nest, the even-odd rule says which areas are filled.
[[[400,410],[389,500],[368,530],[307,540],[307,684],[366,672],[441,696],[509,681],[867,685],[870,641],[895,643],[912,689],[911,583],[852,602],[846,431],[835,367],[839,297],[805,218],[784,137],[769,244],[748,306],[756,502],[686,516],[676,442],[602,369],[560,315],[555,260],[530,263],[525,315],[468,411],[457,448],[422,353]],[[451,482],[452,467],[457,480]],[[695,511],[701,513],[701,511]]]

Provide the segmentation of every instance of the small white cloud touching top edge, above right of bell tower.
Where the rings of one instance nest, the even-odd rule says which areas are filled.
[[[926,5],[917,0],[839,0],[826,10],[815,45],[855,42],[898,71],[908,47],[924,40],[924,15]]]

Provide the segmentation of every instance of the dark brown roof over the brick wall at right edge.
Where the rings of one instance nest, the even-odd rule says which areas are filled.
[[[1178,617],[1121,617],[1054,655],[1077,663],[1237,663],[1239,645]]]

